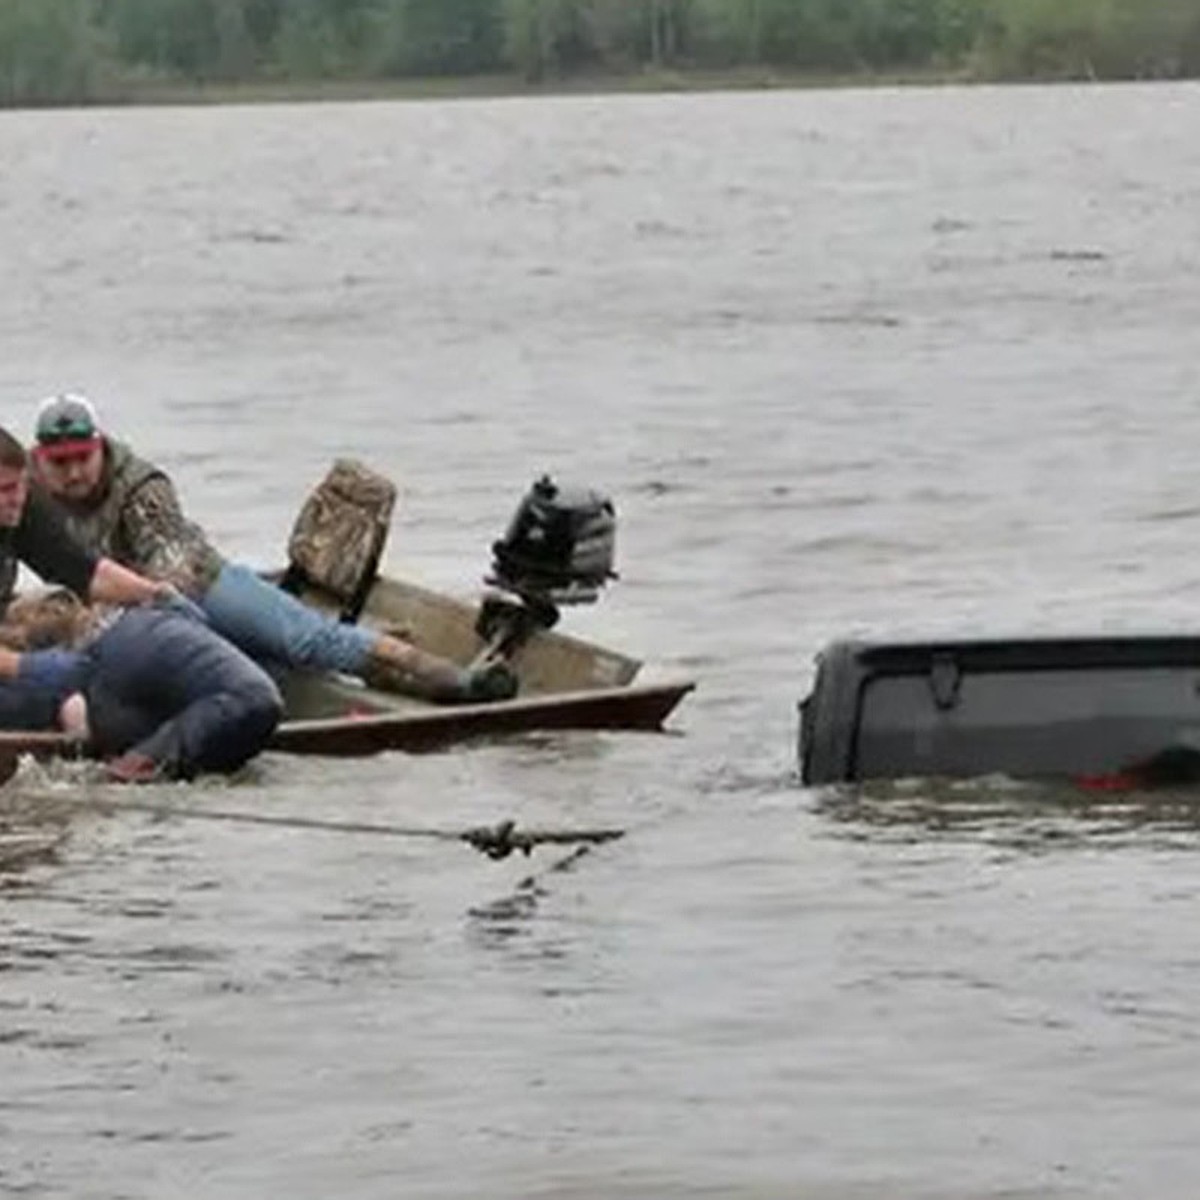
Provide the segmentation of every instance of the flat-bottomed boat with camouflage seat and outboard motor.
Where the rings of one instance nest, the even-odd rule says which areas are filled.
[[[361,756],[428,750],[468,738],[533,730],[660,730],[692,680],[638,683],[642,662],[556,632],[563,606],[592,604],[614,577],[616,515],[590,490],[544,478],[492,546],[478,604],[378,574],[395,486],[341,460],[305,502],[272,578],[304,602],[396,634],[458,664],[503,658],[516,672],[511,700],[442,706],[338,676],[292,672],[284,719],[270,748],[298,755]],[[23,754],[78,757],[54,732],[0,731],[0,779]]]

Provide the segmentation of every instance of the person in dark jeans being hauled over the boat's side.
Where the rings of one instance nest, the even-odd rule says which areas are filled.
[[[18,596],[0,646],[56,658],[54,677],[25,689],[24,726],[65,730],[108,758],[119,782],[235,770],[283,713],[271,677],[182,607],[89,608],[65,590]]]

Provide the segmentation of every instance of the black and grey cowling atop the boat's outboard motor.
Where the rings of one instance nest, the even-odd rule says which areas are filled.
[[[616,541],[617,514],[608,497],[544,475],[492,544],[492,575],[520,595],[587,602],[616,578]]]

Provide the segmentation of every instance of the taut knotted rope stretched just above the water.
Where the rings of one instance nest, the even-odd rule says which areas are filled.
[[[28,796],[28,793],[26,793]],[[146,812],[156,817],[182,817],[188,821],[233,821],[239,824],[274,826],[280,829],[316,829],[323,833],[360,833],[382,838],[427,838],[437,841],[462,841],[488,858],[500,860],[514,851],[528,854],[535,846],[592,845],[616,841],[624,829],[518,829],[515,821],[494,826],[473,826],[467,829],[436,829],[425,826],[383,824],[374,821],[326,821],[320,817],[281,817],[266,812],[246,812],[241,809],[191,809],[178,804],[152,800],[109,800],[97,797],[37,793],[38,800],[62,804],[94,812]]]

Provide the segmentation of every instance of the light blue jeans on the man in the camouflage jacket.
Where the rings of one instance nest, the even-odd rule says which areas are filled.
[[[272,667],[359,674],[378,636],[313,611],[238,563],[226,563],[197,602],[222,637]]]

